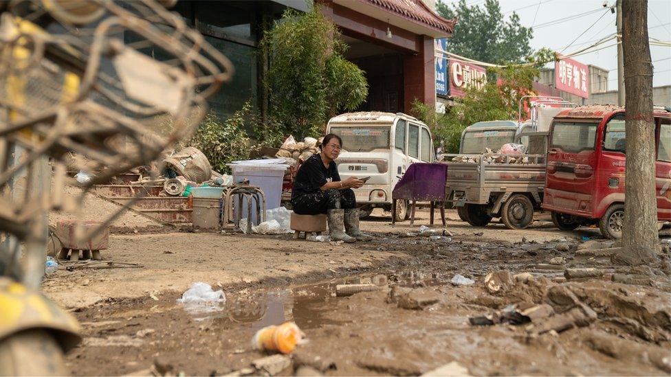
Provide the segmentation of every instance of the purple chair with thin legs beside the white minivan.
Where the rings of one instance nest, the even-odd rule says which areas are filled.
[[[392,224],[396,222],[396,203],[401,199],[412,201],[410,225],[415,223],[417,201],[429,201],[431,203],[431,225],[433,225],[434,209],[437,203],[440,203],[441,220],[445,226],[445,179],[447,176],[448,165],[444,163],[412,163],[391,194]]]

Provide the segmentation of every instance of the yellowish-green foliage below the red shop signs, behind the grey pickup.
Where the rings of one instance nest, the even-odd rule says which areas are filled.
[[[518,106],[523,95],[533,95],[533,78],[543,62],[551,61],[555,53],[547,49],[525,58],[531,65],[490,68],[498,76],[489,80],[483,89],[469,87],[463,98],[454,98],[454,106],[447,113],[438,114],[432,106],[421,102],[412,103],[415,116],[432,128],[436,145],[442,145],[448,153],[459,152],[459,141],[463,130],[476,122],[518,119]]]

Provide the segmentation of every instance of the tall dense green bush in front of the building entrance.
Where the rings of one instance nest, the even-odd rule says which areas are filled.
[[[271,62],[264,84],[283,133],[318,136],[329,117],[366,100],[364,73],[342,56],[347,45],[339,38],[318,5],[307,13],[286,10],[263,36]]]

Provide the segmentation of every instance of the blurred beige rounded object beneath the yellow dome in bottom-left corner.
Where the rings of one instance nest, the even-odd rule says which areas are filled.
[[[25,330],[0,341],[0,376],[65,375],[63,350],[46,330]]]

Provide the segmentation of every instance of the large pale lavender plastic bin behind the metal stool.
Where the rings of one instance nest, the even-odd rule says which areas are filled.
[[[228,164],[233,171],[233,181],[240,182],[248,179],[250,185],[259,186],[265,194],[266,209],[274,209],[281,205],[282,182],[284,174],[289,168],[283,159],[265,159],[234,161]],[[254,203],[253,203],[254,204]],[[247,203],[243,203],[243,208],[247,208]],[[235,208],[235,211],[238,209]],[[243,212],[246,214],[246,212]],[[256,216],[252,216],[254,224],[257,223]]]

